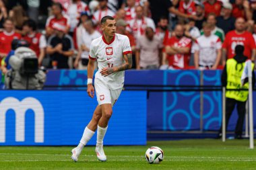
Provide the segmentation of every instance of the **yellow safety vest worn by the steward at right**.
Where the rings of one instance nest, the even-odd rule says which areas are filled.
[[[251,68],[254,68],[253,62]],[[230,58],[226,62],[226,72],[228,76],[226,89],[249,89],[249,83],[245,83],[242,87],[241,77],[245,69],[245,62],[238,63],[234,58]],[[247,91],[226,91],[226,97],[236,99],[237,101],[247,101]]]

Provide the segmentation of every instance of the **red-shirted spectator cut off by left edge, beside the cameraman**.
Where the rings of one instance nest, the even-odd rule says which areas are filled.
[[[3,32],[0,32],[0,61],[11,51],[13,39],[20,39],[22,36],[15,32],[13,20],[6,18],[3,24]]]

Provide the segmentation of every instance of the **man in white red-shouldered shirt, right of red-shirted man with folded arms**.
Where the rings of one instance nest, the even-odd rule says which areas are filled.
[[[203,35],[197,38],[195,50],[195,69],[217,69],[221,59],[222,43],[218,36],[211,34],[212,25],[203,24]]]

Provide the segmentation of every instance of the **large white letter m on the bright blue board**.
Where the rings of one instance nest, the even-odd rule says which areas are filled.
[[[34,97],[26,97],[22,101],[7,97],[0,103],[0,142],[5,142],[5,116],[8,110],[15,112],[15,141],[25,141],[25,117],[27,110],[34,111],[34,141],[44,142],[44,108]]]

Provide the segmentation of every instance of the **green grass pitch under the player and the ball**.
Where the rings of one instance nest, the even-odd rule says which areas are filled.
[[[146,162],[149,146],[164,151],[160,165]],[[105,146],[108,161],[97,161],[94,147],[84,149],[77,163],[70,159],[71,146],[1,146],[0,169],[256,169],[256,149],[249,140],[176,140],[148,142],[148,146]]]

